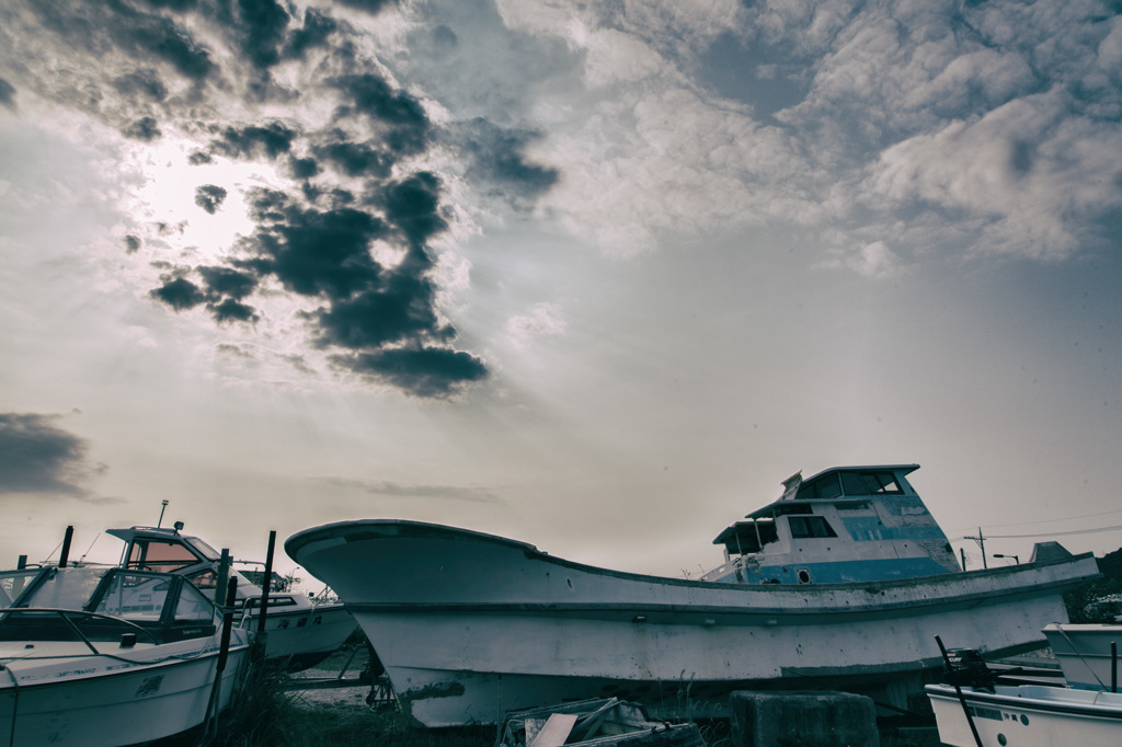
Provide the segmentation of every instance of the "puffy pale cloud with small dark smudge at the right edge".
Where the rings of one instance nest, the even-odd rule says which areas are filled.
[[[1054,89],[903,140],[871,169],[866,199],[977,214],[976,251],[1065,259],[1122,196],[1122,133],[1073,105]]]

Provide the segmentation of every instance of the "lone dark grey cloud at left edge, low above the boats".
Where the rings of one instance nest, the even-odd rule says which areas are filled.
[[[90,464],[86,441],[57,421],[56,415],[0,413],[0,494],[89,497],[82,483],[104,467]]]

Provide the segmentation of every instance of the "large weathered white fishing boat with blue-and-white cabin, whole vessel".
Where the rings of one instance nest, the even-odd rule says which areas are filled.
[[[941,665],[936,634],[990,655],[1040,646],[1045,625],[1067,620],[1063,593],[1098,574],[1089,553],[1056,545],[962,572],[908,482],[914,469],[784,481],[781,498],[717,537],[725,563],[701,580],[397,519],[305,529],[285,550],[344,600],[425,726],[597,697],[719,712],[728,692],[754,688],[908,707]]]

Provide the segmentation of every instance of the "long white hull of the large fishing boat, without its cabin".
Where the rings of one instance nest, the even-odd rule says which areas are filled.
[[[347,602],[402,706],[430,727],[618,695],[693,703],[760,686],[884,691],[940,666],[935,636],[1034,647],[1068,562],[877,583],[742,585],[620,573],[412,522],[309,529],[288,554]],[[369,569],[377,569],[371,573]]]

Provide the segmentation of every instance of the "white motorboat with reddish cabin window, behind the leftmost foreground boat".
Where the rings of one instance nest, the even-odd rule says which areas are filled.
[[[183,575],[213,598],[221,554],[199,537],[182,534],[182,528],[183,524],[176,522],[172,528],[132,526],[108,533],[125,542],[121,568]],[[238,579],[240,625],[257,630],[261,588],[234,570],[230,575]],[[342,602],[270,592],[265,612],[265,657],[288,672],[306,670],[331,656],[357,629],[358,622]]]

